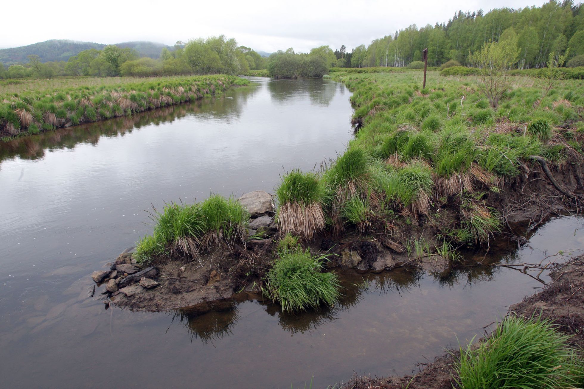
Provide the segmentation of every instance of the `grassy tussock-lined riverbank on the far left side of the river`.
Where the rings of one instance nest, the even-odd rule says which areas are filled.
[[[214,95],[249,81],[228,75],[161,78],[84,78],[22,83],[0,88],[0,137],[39,134],[55,128],[130,116]]]

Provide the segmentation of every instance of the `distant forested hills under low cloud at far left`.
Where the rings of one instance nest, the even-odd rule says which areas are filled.
[[[93,42],[79,42],[74,40],[51,39],[27,46],[4,48],[0,50],[0,62],[5,65],[28,62],[27,55],[39,55],[41,62],[67,61],[72,55],[81,51],[96,48],[102,50],[107,45]],[[140,57],[158,58],[163,47],[171,48],[162,43],[136,41],[119,43],[120,48],[133,48]]]

